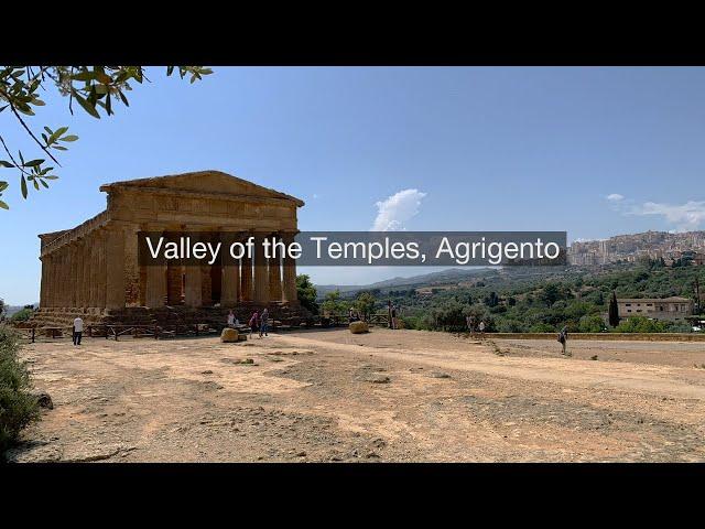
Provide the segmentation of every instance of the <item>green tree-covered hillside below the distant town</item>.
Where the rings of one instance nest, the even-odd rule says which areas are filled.
[[[544,333],[567,325],[571,332],[690,332],[685,322],[651,321],[643,316],[621,320],[609,327],[605,314],[612,292],[617,298],[695,299],[694,285],[705,284],[705,267],[663,267],[661,262],[611,267],[601,272],[568,269],[524,274],[512,269],[488,272],[473,284],[390,292],[405,327],[463,331],[466,316],[485,322],[488,332]]]

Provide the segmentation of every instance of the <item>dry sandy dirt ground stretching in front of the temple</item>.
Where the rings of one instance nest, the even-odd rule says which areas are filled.
[[[373,328],[37,343],[11,461],[705,461],[705,344]],[[251,363],[247,363],[250,361]]]

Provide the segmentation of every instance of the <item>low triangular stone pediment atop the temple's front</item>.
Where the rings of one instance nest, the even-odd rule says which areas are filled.
[[[113,182],[100,186],[107,193],[120,190],[142,190],[165,192],[213,193],[221,196],[251,196],[291,201],[301,207],[304,202],[276,190],[264,187],[247,180],[238,179],[221,171],[198,171],[193,173],[154,176],[149,179]]]

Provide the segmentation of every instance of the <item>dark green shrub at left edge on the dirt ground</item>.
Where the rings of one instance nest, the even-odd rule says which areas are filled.
[[[14,442],[20,431],[39,419],[36,399],[30,393],[30,376],[20,361],[19,335],[0,325],[0,454]]]

